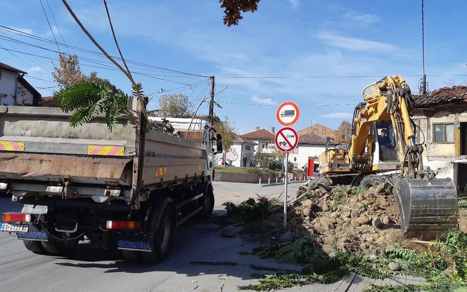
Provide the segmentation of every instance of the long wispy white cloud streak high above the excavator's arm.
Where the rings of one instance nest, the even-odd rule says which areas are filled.
[[[321,32],[318,34],[318,38],[329,46],[350,51],[390,52],[397,50],[397,48],[391,44],[361,38],[344,37],[333,32]]]

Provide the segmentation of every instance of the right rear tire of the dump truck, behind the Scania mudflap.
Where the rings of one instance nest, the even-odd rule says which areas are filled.
[[[148,263],[160,263],[169,254],[175,232],[175,212],[172,206],[165,207],[159,226],[152,242],[151,252],[141,252],[143,260]]]

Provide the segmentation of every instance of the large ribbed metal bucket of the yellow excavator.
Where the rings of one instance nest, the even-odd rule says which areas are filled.
[[[404,238],[435,240],[457,226],[457,190],[451,179],[400,179],[394,188]]]

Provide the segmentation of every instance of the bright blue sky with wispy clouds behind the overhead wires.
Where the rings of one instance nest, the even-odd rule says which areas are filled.
[[[65,43],[96,51],[62,2],[48,1]],[[47,0],[42,2],[55,37],[61,42]],[[103,2],[69,3],[91,34],[110,54],[117,55]],[[460,76],[467,74],[467,1],[444,3],[425,3],[426,72],[442,75],[428,76],[431,90],[447,84],[461,85],[467,80]],[[312,121],[337,128],[342,119],[351,117],[361,100],[361,89],[387,74],[402,74],[412,91],[418,91],[420,77],[413,75],[422,74],[420,4],[415,0],[261,0],[258,11],[244,14],[240,25],[229,28],[223,25],[223,10],[217,0],[108,0],[125,57],[172,70],[215,75],[216,91],[227,86],[216,95],[223,107],[216,109],[216,114],[228,116],[240,133],[255,126],[279,128],[274,115],[276,105],[287,100],[301,106],[301,117],[294,128],[308,127]],[[53,39],[39,0],[24,0],[21,5],[3,0],[0,16],[3,26]],[[57,54],[4,37],[56,51],[55,44],[0,30],[0,61],[27,71],[28,80],[40,88],[43,96],[51,95],[56,89],[51,82],[52,60],[43,57],[56,58]],[[67,52],[64,47],[60,50]],[[130,91],[123,73],[106,69],[113,67],[104,57],[72,49],[69,52],[83,58],[84,73],[96,71]],[[149,109],[157,107],[161,88],[168,93],[185,93],[195,104],[208,92],[205,78],[136,67],[132,70],[145,74],[136,74],[135,78],[152,98]],[[251,76],[291,78],[226,78]],[[303,76],[324,78],[299,78]],[[206,114],[207,110],[208,105],[203,104],[200,113]]]

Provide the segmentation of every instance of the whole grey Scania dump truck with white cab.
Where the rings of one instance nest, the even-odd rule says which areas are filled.
[[[151,120],[161,118],[146,120],[134,99],[112,131],[104,115],[72,128],[70,114],[0,106],[0,188],[22,207],[3,214],[1,231],[37,254],[89,240],[160,262],[177,226],[211,215],[222,137],[209,122],[174,119],[176,134],[157,131]]]

